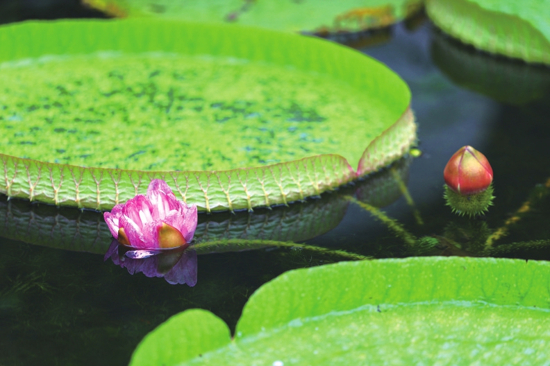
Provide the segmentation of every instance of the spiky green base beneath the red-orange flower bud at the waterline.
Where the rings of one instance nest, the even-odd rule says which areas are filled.
[[[489,206],[492,206],[494,199],[493,187],[490,184],[487,189],[478,193],[460,194],[444,185],[444,198],[447,201],[447,206],[451,207],[455,214],[460,216],[467,215],[469,217],[483,215],[488,211]]]

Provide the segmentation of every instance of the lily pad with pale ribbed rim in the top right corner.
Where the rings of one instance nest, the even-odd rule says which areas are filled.
[[[435,25],[497,55],[550,64],[550,3],[540,0],[428,0]]]

